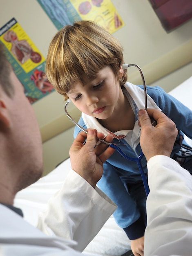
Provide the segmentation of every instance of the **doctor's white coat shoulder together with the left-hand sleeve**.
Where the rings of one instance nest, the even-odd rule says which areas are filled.
[[[72,170],[48,207],[38,227],[51,236],[0,204],[0,256],[82,255],[72,248],[82,251],[116,209],[102,191]]]

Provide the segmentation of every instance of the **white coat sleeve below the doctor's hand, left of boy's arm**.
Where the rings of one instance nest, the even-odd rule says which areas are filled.
[[[77,241],[74,249],[82,252],[115,209],[100,189],[93,189],[71,170],[62,188],[50,198],[47,211],[40,213],[38,228],[45,234]]]

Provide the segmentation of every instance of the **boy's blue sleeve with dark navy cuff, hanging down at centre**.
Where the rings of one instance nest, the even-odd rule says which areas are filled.
[[[145,224],[136,203],[125,188],[116,168],[108,162],[103,164],[103,175],[98,187],[117,205],[113,216],[128,238],[134,240],[144,236]]]

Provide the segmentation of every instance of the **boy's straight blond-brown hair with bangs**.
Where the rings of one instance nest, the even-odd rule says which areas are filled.
[[[49,45],[45,72],[47,79],[65,99],[76,82],[94,79],[106,66],[111,67],[117,81],[124,63],[123,47],[103,27],[80,20],[60,29]],[[124,70],[120,85],[127,81]]]

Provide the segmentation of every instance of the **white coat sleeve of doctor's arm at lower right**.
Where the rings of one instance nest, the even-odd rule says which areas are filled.
[[[192,176],[173,159],[157,155],[148,164],[145,256],[191,255]]]

